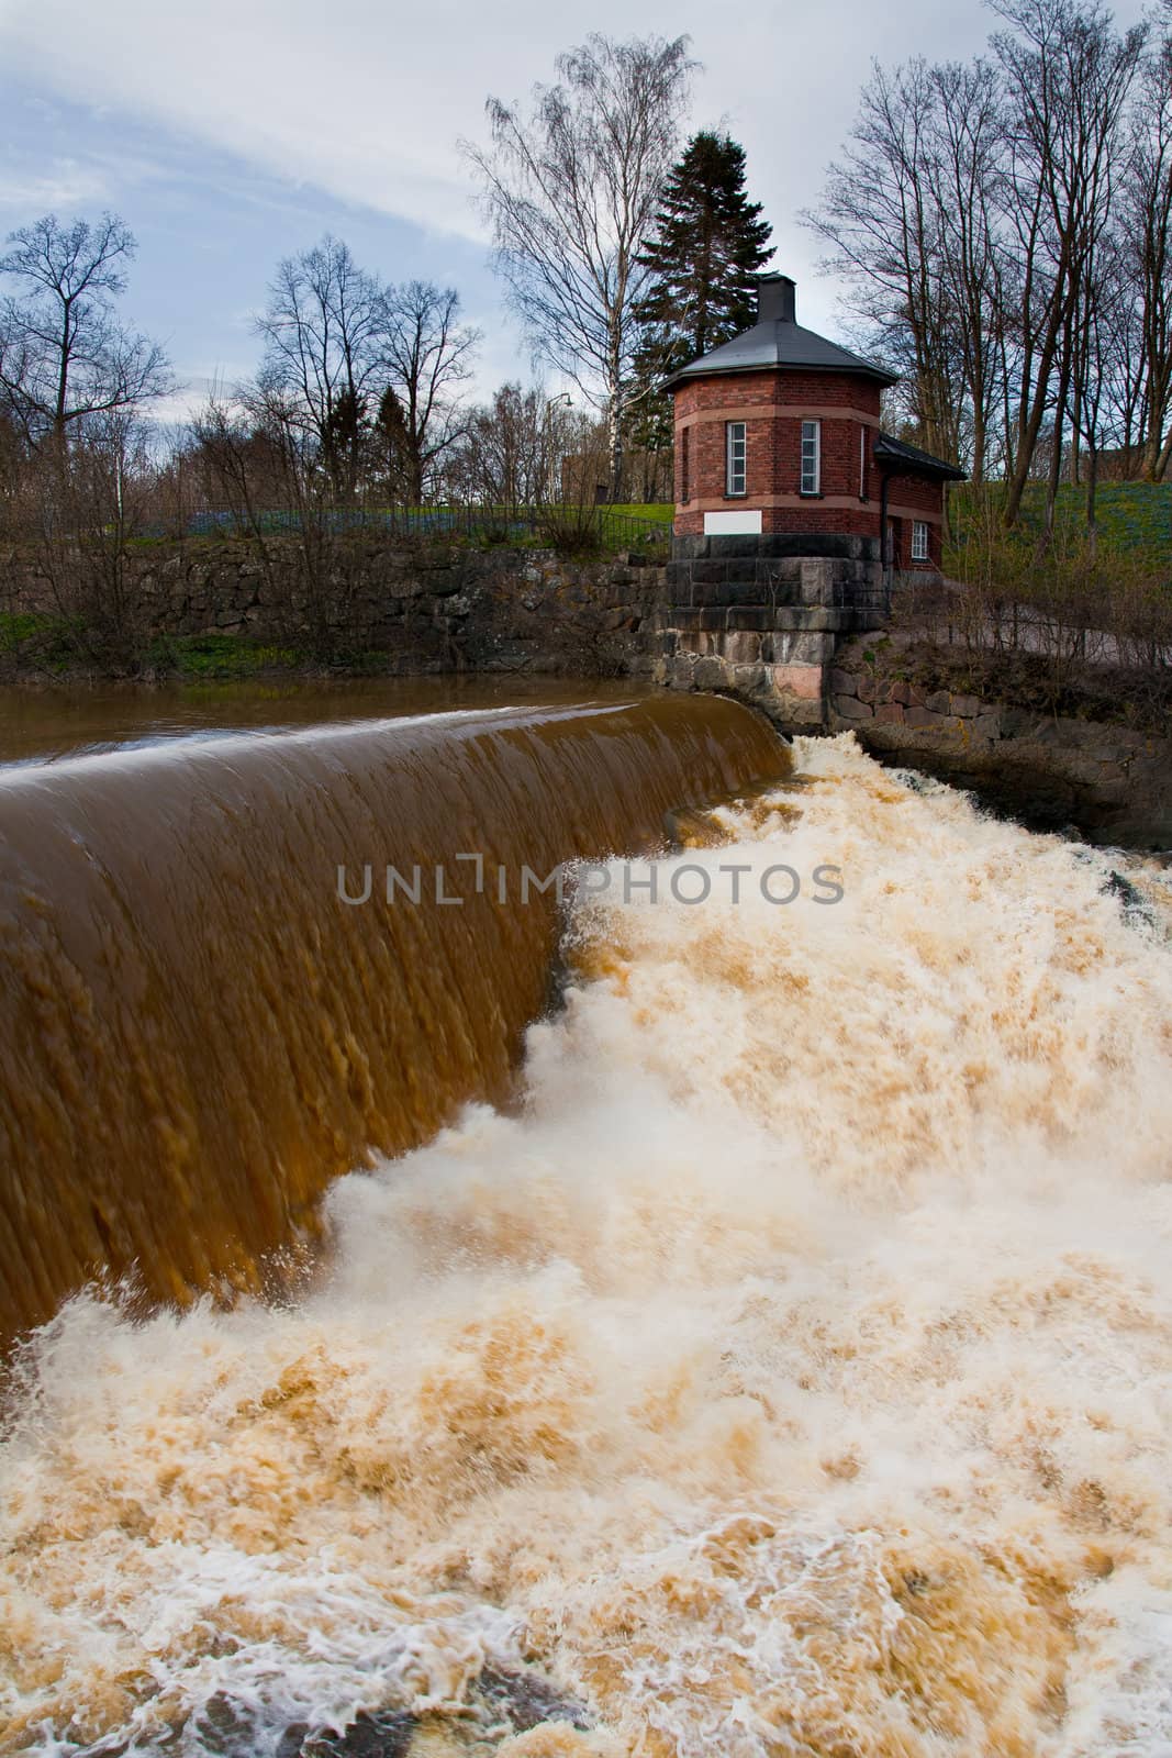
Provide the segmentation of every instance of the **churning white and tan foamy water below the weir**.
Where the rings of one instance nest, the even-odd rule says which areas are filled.
[[[1172,1751],[1163,877],[796,758],[300,1301],[32,1338],[0,1749]]]

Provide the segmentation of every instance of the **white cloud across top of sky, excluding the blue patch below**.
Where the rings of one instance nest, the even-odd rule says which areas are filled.
[[[1140,0],[1123,0],[1137,14]],[[705,63],[696,125],[727,121],[775,227],[801,315],[833,325],[833,288],[796,213],[817,197],[872,56],[963,56],[993,19],[980,0],[596,0],[589,23],[548,0],[0,0],[0,62],[105,113],[130,113],[293,185],[480,239],[460,135],[483,137],[487,93],[524,97],[587,28],[691,32]],[[163,155],[165,156],[165,155]],[[46,190],[56,172],[46,172]],[[65,193],[61,206],[69,206]]]

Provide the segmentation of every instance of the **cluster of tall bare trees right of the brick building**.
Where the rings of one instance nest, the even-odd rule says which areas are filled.
[[[805,220],[903,374],[896,410],[977,482],[1005,476],[1009,524],[1044,482],[1049,540],[1084,447],[1096,473],[1142,429],[1167,468],[1172,54],[1098,0],[991,5],[993,60],[873,70]]]

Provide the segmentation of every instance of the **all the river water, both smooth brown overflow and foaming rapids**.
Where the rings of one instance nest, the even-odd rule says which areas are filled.
[[[0,1753],[1172,1754],[1167,874],[369,691],[0,703]]]

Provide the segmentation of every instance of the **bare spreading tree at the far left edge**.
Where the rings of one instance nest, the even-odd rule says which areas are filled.
[[[67,225],[46,214],[9,246],[0,276],[16,292],[0,302],[0,410],[30,447],[172,389],[162,348],[114,313],[135,253],[121,220]]]

